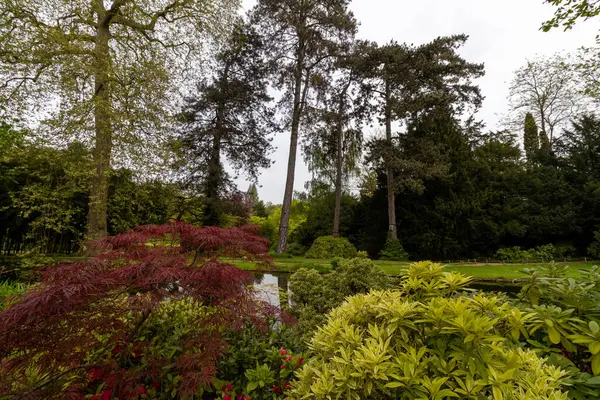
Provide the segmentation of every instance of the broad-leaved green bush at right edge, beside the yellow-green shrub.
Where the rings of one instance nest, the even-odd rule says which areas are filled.
[[[567,276],[569,267],[529,269],[518,306],[528,314],[528,344],[569,372],[572,399],[600,398],[600,268]]]

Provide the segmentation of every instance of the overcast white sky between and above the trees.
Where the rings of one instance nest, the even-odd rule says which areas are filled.
[[[243,0],[246,9],[255,0]],[[359,38],[384,44],[426,43],[438,36],[465,33],[470,36],[461,50],[472,62],[485,63],[486,75],[478,81],[485,96],[479,119],[488,129],[500,128],[500,114],[506,111],[508,83],[513,72],[535,55],[552,55],[592,46],[600,19],[579,23],[569,32],[539,30],[553,8],[543,0],[353,0],[351,10],[360,22]],[[260,176],[259,197],[281,204],[287,169],[289,133],[274,140],[275,164]],[[310,175],[298,154],[295,188],[301,190]],[[248,183],[238,181],[245,190]]]

